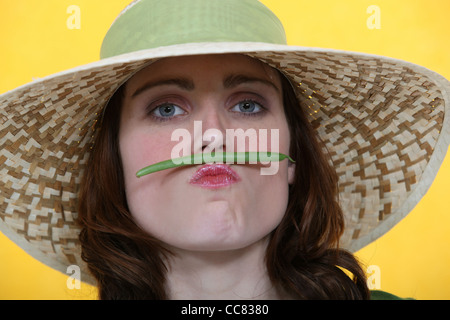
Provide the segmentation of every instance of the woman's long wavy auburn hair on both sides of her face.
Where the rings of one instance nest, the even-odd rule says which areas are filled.
[[[296,166],[286,213],[266,251],[269,277],[295,299],[368,299],[365,273],[339,248],[344,218],[336,172],[289,81],[281,79]],[[102,115],[81,182],[82,258],[100,299],[167,299],[165,262],[171,253],[138,227],[126,201],[118,143],[123,95],[122,86]]]

